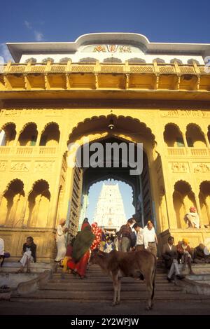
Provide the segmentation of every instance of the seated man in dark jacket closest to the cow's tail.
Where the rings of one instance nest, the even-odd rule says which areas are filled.
[[[168,243],[162,246],[162,258],[165,260],[165,267],[169,270],[167,280],[172,281],[172,276],[176,275],[177,279],[183,279],[184,276],[179,272],[179,266],[177,261],[177,249],[174,246],[174,237],[168,238]]]

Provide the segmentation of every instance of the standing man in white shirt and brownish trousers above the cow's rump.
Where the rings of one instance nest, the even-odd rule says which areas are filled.
[[[144,227],[144,248],[151,251],[155,257],[157,257],[157,245],[158,238],[155,233],[155,228],[152,221],[148,221],[147,225]]]

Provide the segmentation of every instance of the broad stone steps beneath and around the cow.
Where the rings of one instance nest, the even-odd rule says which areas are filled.
[[[121,286],[122,302],[145,302],[148,293],[146,283],[139,279],[123,278]],[[45,286],[27,295],[13,295],[13,301],[25,302],[84,302],[104,303],[113,299],[113,284],[102,270],[93,265],[87,270],[87,279],[81,280],[73,274],[62,274],[58,269]],[[161,302],[186,301],[210,302],[210,296],[186,294],[182,287],[167,281],[164,269],[158,268],[155,278],[155,300]]]

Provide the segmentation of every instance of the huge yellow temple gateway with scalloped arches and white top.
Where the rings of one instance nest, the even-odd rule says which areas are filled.
[[[160,245],[169,235],[190,246],[209,239],[210,44],[99,33],[8,49],[15,62],[0,70],[0,236],[13,260],[31,235],[38,261],[51,262],[59,219],[76,235],[90,186],[107,179],[132,187],[134,217],[153,219]],[[143,143],[143,172],[70,166],[69,145],[83,148],[84,137]],[[186,228],[190,207],[200,228]]]

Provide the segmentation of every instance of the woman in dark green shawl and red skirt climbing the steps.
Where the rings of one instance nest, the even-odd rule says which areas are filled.
[[[85,218],[81,231],[78,233],[76,240],[73,243],[73,259],[67,262],[67,267],[69,267],[74,273],[78,274],[81,279],[85,278],[87,262],[90,256],[89,248],[92,245],[94,238],[88,219]]]

